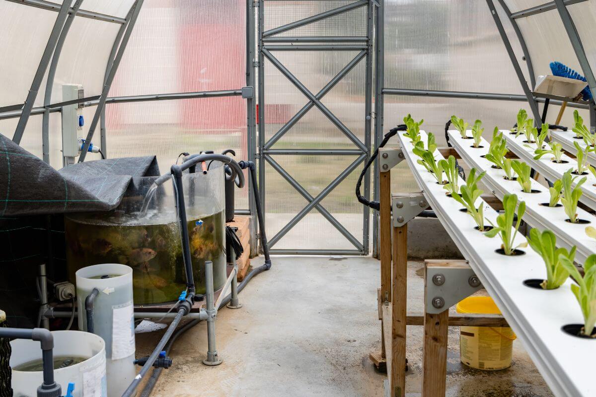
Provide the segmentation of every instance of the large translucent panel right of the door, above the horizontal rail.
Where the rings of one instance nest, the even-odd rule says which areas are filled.
[[[385,5],[385,87],[522,93],[485,1],[386,0]],[[503,15],[501,21],[521,60],[510,21]]]

